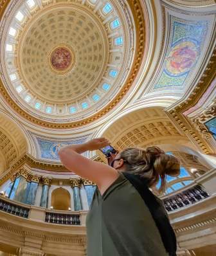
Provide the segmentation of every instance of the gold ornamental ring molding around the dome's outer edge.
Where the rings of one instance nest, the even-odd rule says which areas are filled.
[[[3,17],[4,10],[9,3],[10,0],[0,2],[0,19]],[[95,122],[99,118],[102,118],[102,116],[104,116],[105,114],[109,113],[109,111],[111,111],[111,109],[113,109],[123,99],[127,91],[129,91],[130,87],[132,86],[132,82],[138,75],[138,71],[140,69],[141,61],[143,59],[145,51],[145,19],[140,0],[129,0],[128,4],[131,8],[132,15],[134,17],[134,23],[136,25],[137,45],[135,49],[136,52],[134,56],[134,63],[132,64],[129,77],[127,78],[127,81],[125,82],[118,95],[116,95],[108,105],[98,111],[98,113],[93,114],[88,118],[84,118],[83,120],[70,123],[53,123],[40,120],[39,118],[35,118],[34,116],[28,114],[27,111],[21,109],[21,107],[19,107],[19,105],[17,105],[16,102],[12,100],[12,98],[6,91],[3,82],[0,80],[0,93],[4,97],[4,100],[6,100],[6,102],[10,104],[10,107],[12,107],[12,109],[16,111],[20,116],[22,116],[22,118],[25,118],[26,120],[35,123],[36,125],[53,129],[70,129],[80,127],[83,125],[87,125],[88,123]]]

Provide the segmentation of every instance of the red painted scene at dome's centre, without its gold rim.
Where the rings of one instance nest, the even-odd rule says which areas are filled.
[[[67,69],[71,64],[71,53],[66,48],[57,48],[51,54],[51,64],[57,70]]]

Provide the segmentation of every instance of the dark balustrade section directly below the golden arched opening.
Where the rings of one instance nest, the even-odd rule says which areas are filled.
[[[45,222],[66,225],[80,225],[80,215],[46,212]]]

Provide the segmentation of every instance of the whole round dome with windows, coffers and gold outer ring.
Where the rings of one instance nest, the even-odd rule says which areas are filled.
[[[137,3],[11,1],[4,17],[3,95],[31,122],[55,128],[93,122],[131,86],[145,42],[144,27],[136,33],[144,26]]]

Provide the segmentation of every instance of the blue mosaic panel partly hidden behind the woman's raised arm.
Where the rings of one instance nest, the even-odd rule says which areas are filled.
[[[51,140],[46,140],[44,138],[37,137],[37,143],[39,144],[40,148],[40,156],[39,158],[46,159],[46,160],[58,160],[58,151],[62,147],[65,147],[66,145],[72,145],[72,144],[81,144],[84,143],[86,138],[81,138],[77,140],[72,140],[70,142],[55,142]],[[85,154],[83,154],[85,156]]]

